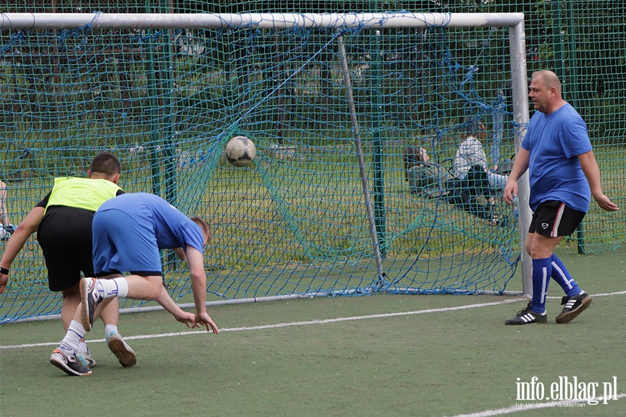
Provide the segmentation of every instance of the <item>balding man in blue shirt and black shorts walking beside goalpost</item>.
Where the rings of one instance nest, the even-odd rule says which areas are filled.
[[[508,204],[517,197],[517,179],[528,170],[529,205],[533,218],[526,250],[533,260],[533,297],[528,306],[505,321],[506,325],[547,322],[545,297],[550,278],[565,291],[557,323],[574,320],[591,304],[565,265],[554,254],[563,236],[572,234],[584,218],[590,195],[606,211],[617,204],[602,193],[587,126],[561,93],[561,81],[552,71],[533,74],[529,97],[537,110],[504,188]]]

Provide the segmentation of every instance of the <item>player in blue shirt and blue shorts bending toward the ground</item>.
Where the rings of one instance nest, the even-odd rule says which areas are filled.
[[[81,305],[65,338],[52,352],[51,363],[68,375],[91,375],[89,368],[72,361],[71,353],[90,331],[102,300],[157,300],[168,309],[171,298],[163,286],[161,249],[173,249],[189,263],[196,313],[186,325],[204,326],[218,334],[205,305],[207,275],[202,252],[212,236],[207,222],[186,217],[157,195],[128,193],[102,204],[93,218],[93,265],[100,278],[81,280]],[[130,275],[122,277],[125,271]]]

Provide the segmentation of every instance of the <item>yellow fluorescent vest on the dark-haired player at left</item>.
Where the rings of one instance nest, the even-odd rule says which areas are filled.
[[[49,206],[66,206],[96,211],[106,200],[115,197],[120,189],[117,184],[106,179],[55,178],[46,211]]]

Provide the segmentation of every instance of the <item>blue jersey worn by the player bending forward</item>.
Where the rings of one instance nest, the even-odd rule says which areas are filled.
[[[124,197],[118,201],[119,197]],[[190,245],[204,251],[204,236],[198,224],[158,195],[126,193],[104,202],[97,213],[116,210],[126,213],[135,229],[144,226],[154,231],[159,249],[175,249]]]

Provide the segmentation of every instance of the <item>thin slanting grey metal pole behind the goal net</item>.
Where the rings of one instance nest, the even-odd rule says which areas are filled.
[[[371,206],[371,195],[367,183],[367,171],[365,170],[365,160],[363,158],[363,149],[361,144],[361,135],[359,131],[359,122],[356,115],[354,104],[354,96],[352,94],[352,81],[350,79],[350,70],[348,68],[348,58],[346,58],[346,46],[344,44],[344,36],[337,36],[337,46],[339,48],[339,56],[342,58],[342,72],[344,72],[344,85],[346,87],[346,98],[348,99],[348,107],[350,109],[350,120],[352,122],[352,131],[354,135],[354,147],[359,163],[359,174],[363,187],[363,196],[365,199],[365,211],[367,220],[369,221],[369,230],[371,233],[371,242],[374,245],[374,259],[376,260],[376,270],[378,270],[378,285],[383,283],[385,272],[383,272],[383,257],[380,255],[380,245],[378,244],[378,231],[376,230],[376,218],[374,218],[374,210]]]

